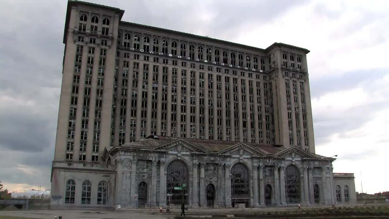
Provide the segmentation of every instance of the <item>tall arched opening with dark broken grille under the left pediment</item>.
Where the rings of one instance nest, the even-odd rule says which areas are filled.
[[[183,161],[172,161],[167,168],[166,194],[170,196],[170,203],[166,197],[166,204],[180,205],[188,203],[189,171]]]

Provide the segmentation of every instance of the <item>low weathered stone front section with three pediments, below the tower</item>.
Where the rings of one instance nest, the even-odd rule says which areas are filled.
[[[85,206],[85,180],[91,182],[90,207],[101,204],[102,181],[108,184],[105,206],[110,207],[177,207],[182,200],[189,208],[331,204],[331,187],[334,203],[356,201],[353,175],[333,174],[335,159],[298,147],[149,136],[107,148],[103,158],[103,164],[54,161],[52,195],[61,198],[53,199],[53,206]],[[74,203],[66,203],[72,196],[68,180],[75,181]]]

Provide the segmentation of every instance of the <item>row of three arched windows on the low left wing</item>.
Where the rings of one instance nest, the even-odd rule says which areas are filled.
[[[75,203],[75,181],[70,179],[66,182],[66,191],[65,191],[65,203],[73,204]],[[100,181],[97,187],[97,200],[93,204],[107,204],[108,200],[108,184],[105,181]],[[82,182],[81,190],[81,204],[91,204],[91,193],[92,193],[92,183],[89,180]]]

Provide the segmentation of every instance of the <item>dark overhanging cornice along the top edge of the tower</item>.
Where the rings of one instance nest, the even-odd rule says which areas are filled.
[[[77,1],[77,0],[68,0],[63,43],[66,43],[66,36],[67,36],[68,28],[69,28],[70,9],[74,6],[77,7],[77,5],[80,5],[80,4],[85,5],[85,6],[89,6],[89,7],[98,7],[101,9],[112,11],[115,14],[119,14],[120,19],[123,17],[123,14],[124,14],[124,10],[119,9],[119,8],[109,7],[106,5],[93,4],[93,3],[89,3],[89,2],[83,2],[83,1]],[[261,48],[257,48],[254,46],[247,46],[247,45],[239,44],[239,43],[235,43],[235,42],[214,39],[214,38],[200,36],[200,35],[196,35],[196,34],[188,34],[188,33],[180,32],[180,31],[176,31],[176,30],[169,30],[169,29],[159,28],[159,27],[155,27],[155,26],[131,23],[131,22],[127,22],[127,21],[120,21],[120,25],[121,26],[132,26],[132,27],[138,27],[138,28],[146,28],[149,30],[154,30],[154,31],[158,31],[158,32],[166,33],[166,34],[182,35],[183,37],[191,37],[191,38],[198,39],[198,40],[208,40],[208,41],[212,41],[215,43],[223,43],[223,44],[227,44],[229,46],[235,46],[235,47],[239,47],[239,48],[247,48],[247,49],[251,49],[254,51],[258,51],[258,52],[264,52],[264,53],[268,53],[275,48],[295,49],[297,51],[301,51],[304,54],[308,54],[310,52],[308,49],[304,49],[301,47],[292,46],[292,45],[284,44],[284,43],[280,43],[280,42],[275,42],[272,45],[270,45],[268,48],[261,49]]]

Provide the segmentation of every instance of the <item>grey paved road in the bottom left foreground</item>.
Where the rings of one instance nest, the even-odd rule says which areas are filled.
[[[62,216],[62,219],[166,219],[171,214],[150,215],[140,212],[86,212],[86,211],[63,211],[63,210],[31,210],[31,211],[0,211],[2,216],[28,217],[36,219],[53,219],[54,216]]]

